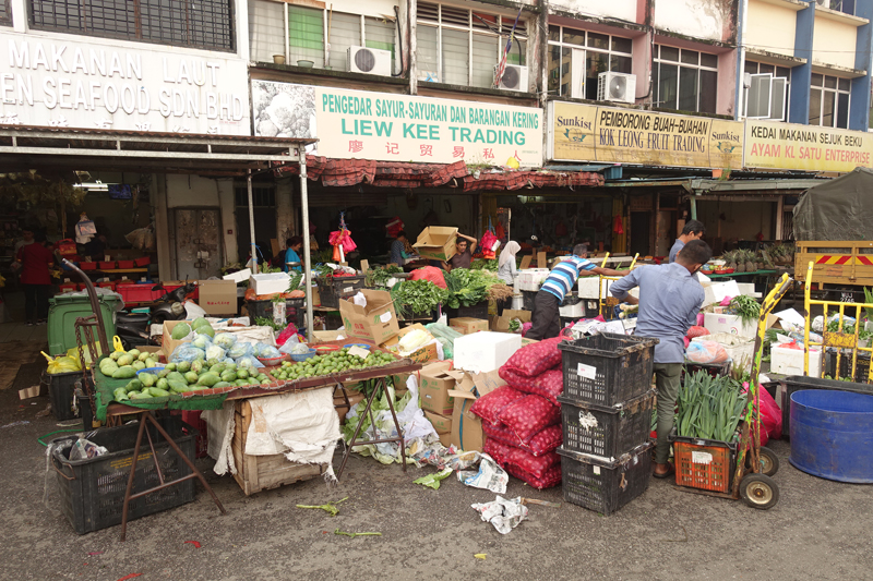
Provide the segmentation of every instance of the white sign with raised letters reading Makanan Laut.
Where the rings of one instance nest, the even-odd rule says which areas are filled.
[[[0,124],[249,135],[243,60],[0,33]]]

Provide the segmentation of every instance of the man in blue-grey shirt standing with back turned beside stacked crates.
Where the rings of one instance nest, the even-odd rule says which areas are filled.
[[[667,437],[673,428],[675,400],[682,363],[685,361],[683,337],[697,322],[704,301],[704,290],[695,274],[713,257],[713,251],[703,240],[692,240],[684,245],[672,264],[641,266],[610,287],[620,301],[639,305],[636,335],[655,337],[655,385],[658,388],[658,443],[655,447],[655,477],[666,479],[675,473],[667,462],[670,443]],[[639,299],[627,291],[639,287]]]

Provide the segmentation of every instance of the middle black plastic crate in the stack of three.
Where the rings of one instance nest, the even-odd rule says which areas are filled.
[[[576,406],[563,396],[558,401],[567,451],[618,458],[648,440],[654,389],[611,408]]]

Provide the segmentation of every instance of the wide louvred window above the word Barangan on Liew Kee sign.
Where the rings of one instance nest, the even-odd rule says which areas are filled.
[[[416,59],[420,81],[492,87],[515,16],[485,14],[443,4],[418,3]],[[525,65],[527,33],[515,27],[507,64]]]

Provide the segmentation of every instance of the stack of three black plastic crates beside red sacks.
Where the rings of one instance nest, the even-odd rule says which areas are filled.
[[[601,334],[559,344],[564,500],[610,515],[648,487],[657,339]]]

